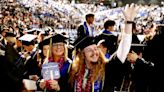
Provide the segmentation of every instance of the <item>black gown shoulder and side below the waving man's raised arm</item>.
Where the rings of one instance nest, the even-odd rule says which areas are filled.
[[[105,65],[105,81],[103,92],[114,92],[120,89],[124,76],[123,63],[117,58],[113,57],[109,63]]]

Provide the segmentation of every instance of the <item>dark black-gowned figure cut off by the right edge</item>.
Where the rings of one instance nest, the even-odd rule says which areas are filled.
[[[163,30],[162,30],[163,31]],[[164,35],[156,35],[152,40],[147,42],[147,47],[144,50],[143,57],[145,60],[154,63],[152,71],[152,82],[150,92],[163,92],[164,83]]]

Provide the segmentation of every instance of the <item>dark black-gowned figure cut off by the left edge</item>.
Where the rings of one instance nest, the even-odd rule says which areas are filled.
[[[2,92],[21,92],[22,75],[21,68],[15,62],[19,54],[9,45],[6,45],[5,56],[0,56],[0,90]]]

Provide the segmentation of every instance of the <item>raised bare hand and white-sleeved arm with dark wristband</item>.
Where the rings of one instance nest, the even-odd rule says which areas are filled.
[[[123,15],[125,17],[125,26],[124,29],[121,30],[123,34],[117,49],[117,57],[120,59],[122,63],[125,62],[125,59],[127,58],[127,55],[131,47],[132,23],[138,13],[138,10],[139,10],[139,6],[134,4],[131,4],[130,6],[127,4],[125,6],[125,9],[122,10]]]

